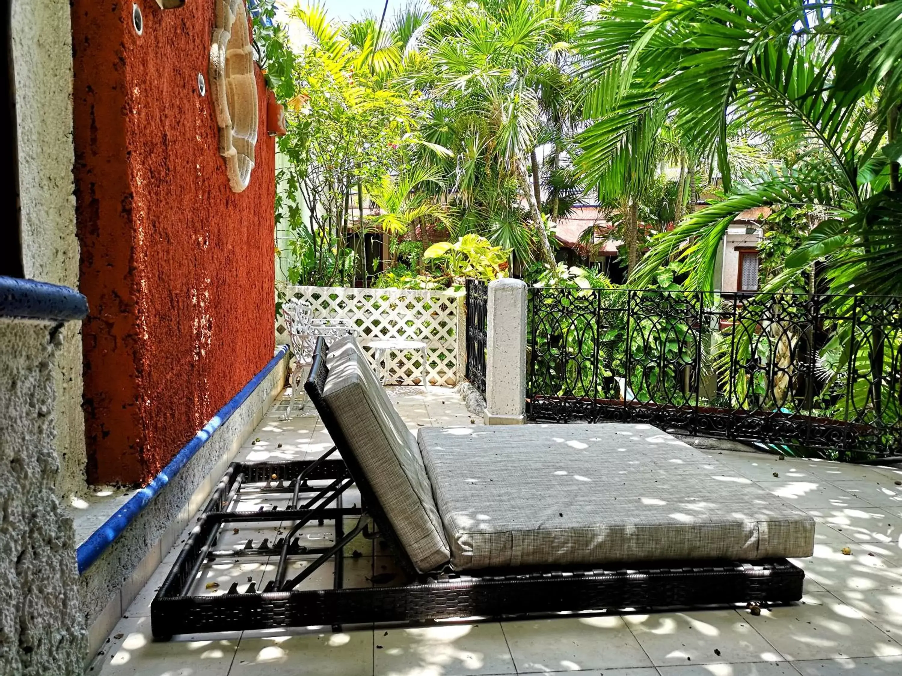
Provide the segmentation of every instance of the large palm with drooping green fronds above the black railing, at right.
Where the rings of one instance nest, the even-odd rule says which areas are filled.
[[[676,254],[686,284],[711,289],[717,247],[736,215],[790,205],[816,207],[825,219],[787,258],[775,287],[825,258],[833,290],[902,291],[900,26],[900,3],[603,5],[580,42],[599,113],[584,134],[586,154],[616,169],[668,120],[699,156],[712,157],[727,195],[656,236],[636,281]],[[736,125],[792,152],[734,178]]]

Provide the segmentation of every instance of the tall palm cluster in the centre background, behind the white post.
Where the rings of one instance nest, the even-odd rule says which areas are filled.
[[[492,242],[520,256],[528,253],[528,238],[517,232],[521,220],[511,218],[521,199],[539,255],[551,267],[536,148],[548,140],[543,132],[554,127],[549,111],[566,112],[555,105],[570,77],[560,55],[581,17],[575,0],[458,2],[432,15],[422,58],[403,76],[433,102],[432,119],[421,129],[424,138],[454,153],[428,161],[445,173],[463,207],[460,232],[481,213],[479,220],[491,224],[486,234]]]

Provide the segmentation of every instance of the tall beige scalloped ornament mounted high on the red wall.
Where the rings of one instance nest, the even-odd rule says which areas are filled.
[[[260,122],[253,73],[251,30],[244,0],[214,0],[216,25],[210,46],[210,91],[219,125],[219,154],[229,186],[240,193],[251,182]]]

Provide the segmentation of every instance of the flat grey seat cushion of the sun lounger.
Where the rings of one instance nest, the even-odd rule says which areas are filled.
[[[815,522],[650,425],[419,430],[457,570],[808,556]]]

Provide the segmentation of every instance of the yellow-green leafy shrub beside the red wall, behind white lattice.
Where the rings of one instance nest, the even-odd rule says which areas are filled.
[[[277,171],[278,217],[295,235],[292,251],[312,251],[314,267],[299,266],[307,283],[349,284],[355,254],[369,269],[363,246],[357,252],[347,246],[349,234],[359,229],[362,185],[382,181],[403,162],[413,104],[316,48],[299,60],[294,78],[302,96],[279,140],[288,162]]]

